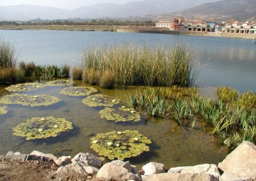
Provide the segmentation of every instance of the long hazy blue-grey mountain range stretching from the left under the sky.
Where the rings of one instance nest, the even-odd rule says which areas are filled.
[[[145,0],[132,1],[126,4],[101,3],[93,6],[84,6],[76,10],[63,10],[44,6],[18,5],[0,6],[0,20],[31,20],[41,19],[67,19],[71,18],[124,18],[143,15],[157,15],[172,11],[184,10],[202,3],[216,2],[218,0]]]

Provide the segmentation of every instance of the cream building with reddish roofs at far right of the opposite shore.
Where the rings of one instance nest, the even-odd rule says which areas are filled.
[[[228,21],[222,29],[223,33],[256,34],[255,22]]]

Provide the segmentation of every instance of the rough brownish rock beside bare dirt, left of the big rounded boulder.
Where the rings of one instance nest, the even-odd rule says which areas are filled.
[[[57,170],[58,177],[65,177],[67,175],[73,175],[74,173],[79,175],[88,175],[84,170],[83,166],[81,166],[78,163],[72,163],[66,166],[61,166]]]

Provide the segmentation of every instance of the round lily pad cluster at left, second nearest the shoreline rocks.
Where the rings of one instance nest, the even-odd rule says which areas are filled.
[[[72,123],[64,118],[33,117],[13,127],[13,134],[26,137],[26,140],[33,140],[56,137],[59,133],[72,128]]]

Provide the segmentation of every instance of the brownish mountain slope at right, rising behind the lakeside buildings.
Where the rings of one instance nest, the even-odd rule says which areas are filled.
[[[234,19],[239,21],[256,18],[256,0],[224,0],[214,3],[204,3],[193,8],[176,12],[183,17],[199,17],[203,19],[218,18]]]

